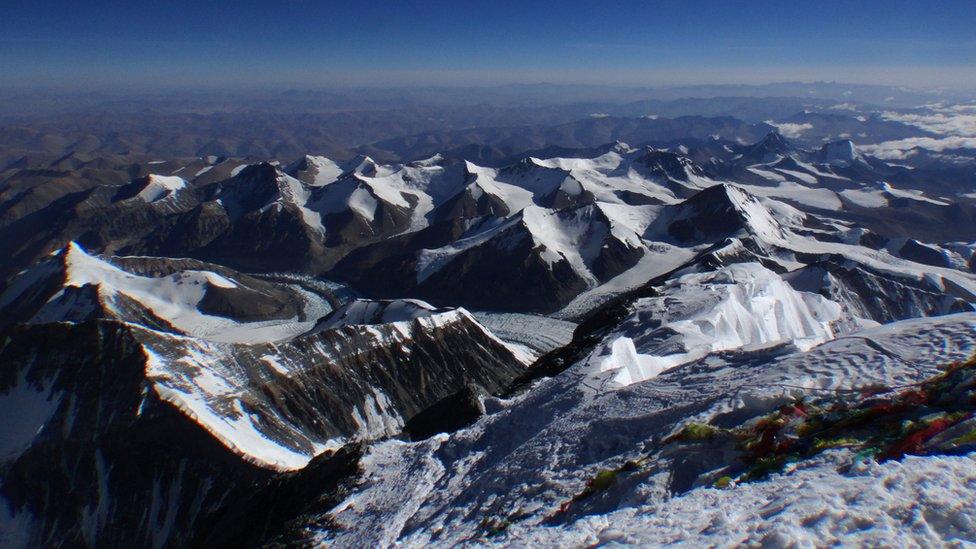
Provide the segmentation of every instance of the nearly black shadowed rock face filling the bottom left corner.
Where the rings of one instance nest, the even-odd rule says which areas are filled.
[[[145,356],[121,324],[15,327],[0,342],[0,389],[36,395],[5,417],[42,426],[0,473],[13,512],[30,516],[31,545],[186,545],[271,476],[145,390]]]

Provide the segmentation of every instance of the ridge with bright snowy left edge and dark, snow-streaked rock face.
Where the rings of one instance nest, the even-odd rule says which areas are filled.
[[[463,385],[458,371],[470,376],[463,381],[493,386],[491,368],[520,371],[530,362],[465,310],[416,300],[356,300],[287,342],[240,345],[158,332],[140,339],[161,399],[245,460],[278,471],[300,469],[349,440],[399,434],[418,411],[413,401],[430,404],[430,391],[444,397],[445,386]],[[424,375],[444,377],[428,387]],[[415,376],[420,386],[410,385]],[[268,386],[279,387],[275,398],[263,392]],[[306,417],[310,410],[317,415]]]

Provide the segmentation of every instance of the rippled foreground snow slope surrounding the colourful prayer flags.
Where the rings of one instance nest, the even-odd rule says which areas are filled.
[[[841,472],[850,456],[828,452],[792,473],[718,490],[695,487],[707,463],[669,453],[661,440],[690,420],[743,421],[792,394],[918,380],[974,350],[976,314],[966,313],[897,322],[808,351],[780,344],[713,353],[614,390],[587,373],[594,352],[523,397],[489,400],[493,413],[467,430],[377,444],[359,490],[331,513],[338,531],[313,527],[309,535],[338,546],[408,547],[968,539],[976,532],[976,512],[961,503],[976,487],[969,456]],[[640,472],[559,516],[597,471],[643,456]],[[507,526],[501,533],[486,529],[499,523]]]

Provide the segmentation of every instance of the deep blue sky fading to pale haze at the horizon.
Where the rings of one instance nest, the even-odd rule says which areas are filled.
[[[0,2],[7,85],[976,87],[976,2]],[[3,84],[0,84],[2,86]]]

